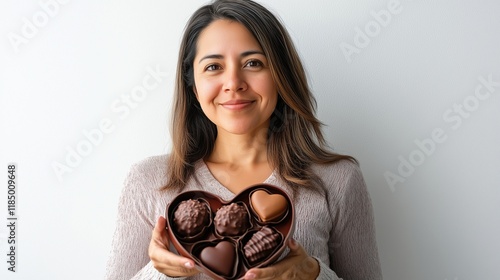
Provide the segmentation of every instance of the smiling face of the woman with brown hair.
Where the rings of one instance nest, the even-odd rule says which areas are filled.
[[[278,100],[262,48],[238,22],[216,20],[197,42],[194,92],[218,130],[256,133],[269,126]]]

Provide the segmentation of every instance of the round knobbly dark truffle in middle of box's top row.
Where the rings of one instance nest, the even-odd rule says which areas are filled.
[[[248,211],[245,206],[237,203],[222,206],[215,214],[214,224],[220,235],[241,235],[250,227]]]

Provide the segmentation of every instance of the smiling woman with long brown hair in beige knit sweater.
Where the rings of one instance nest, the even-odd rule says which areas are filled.
[[[181,191],[230,200],[269,183],[294,202],[289,253],[245,279],[382,279],[372,207],[356,161],[330,152],[283,25],[248,0],[216,0],[189,20],[179,53],[173,150],[133,166],[108,279],[208,279],[171,252],[163,211]],[[152,230],[152,236],[151,236]]]

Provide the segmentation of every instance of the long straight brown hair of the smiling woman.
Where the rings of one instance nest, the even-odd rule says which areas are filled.
[[[165,188],[182,188],[194,163],[212,152],[216,126],[205,116],[193,92],[193,61],[200,33],[213,21],[243,24],[260,43],[278,89],[278,103],[267,132],[268,160],[292,187],[310,186],[319,178],[311,164],[354,158],[328,150],[315,117],[316,100],[309,89],[299,55],[281,22],[250,0],[216,0],[199,8],[186,25],[179,51],[172,117],[173,148]]]

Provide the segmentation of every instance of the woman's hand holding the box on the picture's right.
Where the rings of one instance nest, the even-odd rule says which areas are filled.
[[[252,268],[245,280],[298,279],[312,280],[319,275],[319,264],[295,240],[288,241],[290,253],[280,262],[266,268]]]

